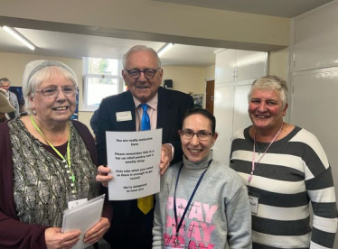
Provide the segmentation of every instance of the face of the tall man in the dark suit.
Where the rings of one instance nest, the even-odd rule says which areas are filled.
[[[129,54],[126,60],[126,69],[157,69],[158,63],[155,55],[150,51],[134,51]],[[144,73],[139,78],[130,78],[127,70],[122,70],[122,76],[131,94],[142,103],[146,103],[155,97],[161,85],[163,70],[156,72],[154,78],[146,78]]]

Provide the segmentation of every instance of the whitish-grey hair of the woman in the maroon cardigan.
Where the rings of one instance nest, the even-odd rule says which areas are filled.
[[[33,60],[24,68],[23,72],[23,98],[26,111],[31,114],[33,111],[30,97],[34,97],[35,91],[44,80],[61,75],[70,80],[75,88],[78,88],[78,79],[75,72],[66,64],[54,60]]]

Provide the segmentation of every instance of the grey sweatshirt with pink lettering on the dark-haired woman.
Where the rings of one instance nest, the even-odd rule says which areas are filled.
[[[153,248],[252,248],[251,213],[247,188],[236,171],[218,161],[209,169],[197,189],[174,246],[174,189],[176,189],[177,223],[192,195],[197,181],[208,167],[212,154],[202,161],[184,158],[171,166],[161,179],[161,192],[156,196]]]

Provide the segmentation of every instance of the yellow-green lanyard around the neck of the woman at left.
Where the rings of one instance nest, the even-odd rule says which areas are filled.
[[[30,115],[31,122],[36,129],[36,131],[42,135],[43,139],[52,147],[53,151],[56,152],[60,157],[62,162],[64,163],[64,168],[66,169],[66,172],[69,174],[69,180],[71,180],[70,187],[72,188],[71,193],[74,194],[76,193],[76,186],[75,186],[75,175],[73,171],[71,171],[71,162],[70,162],[70,124],[68,125],[69,127],[69,134],[68,134],[68,143],[67,143],[67,161],[64,158],[64,156],[59,152],[53,145],[50,143],[45,135],[42,133],[42,130],[39,128],[38,124],[36,124],[33,115]]]

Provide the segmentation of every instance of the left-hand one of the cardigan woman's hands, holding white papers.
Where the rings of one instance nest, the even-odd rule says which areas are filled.
[[[44,238],[48,249],[69,249],[80,240],[80,230],[61,234],[61,227],[49,227],[44,231]]]

